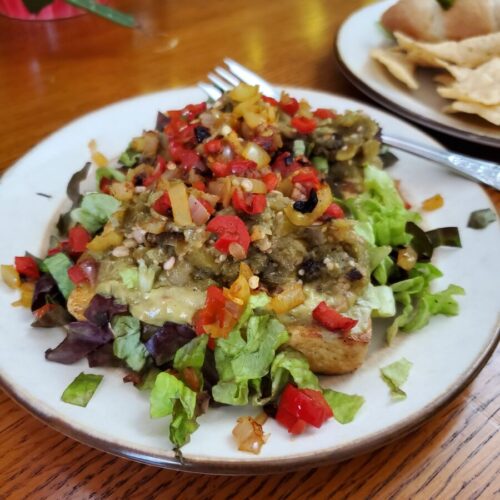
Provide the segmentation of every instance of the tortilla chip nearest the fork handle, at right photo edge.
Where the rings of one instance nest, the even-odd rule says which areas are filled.
[[[486,106],[500,104],[500,58],[497,57],[471,70],[449,87],[438,87],[440,96]]]

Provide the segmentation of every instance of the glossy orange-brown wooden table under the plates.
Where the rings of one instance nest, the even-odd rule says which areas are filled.
[[[366,100],[340,75],[332,48],[341,22],[367,2],[114,3],[135,14],[142,30],[92,16],[0,18],[0,169],[73,118],[194,84],[224,56],[274,82]],[[438,139],[495,159],[486,147]],[[495,201],[500,207],[498,193]],[[500,487],[499,367],[497,353],[454,401],[398,442],[341,464],[269,477],[197,476],[115,458],[65,438],[1,393],[0,497],[492,498]]]

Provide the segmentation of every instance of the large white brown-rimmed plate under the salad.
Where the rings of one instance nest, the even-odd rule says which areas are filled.
[[[390,133],[436,143],[414,127],[384,112],[330,94],[289,89],[315,107],[364,109]],[[88,160],[87,144],[95,139],[109,157],[118,155],[131,137],[152,128],[158,110],[177,109],[204,96],[194,88],[161,92],[123,101],[86,115],[59,130],[31,150],[2,178],[0,184],[0,262],[10,263],[25,250],[43,254],[49,223],[57,218],[72,173]],[[362,394],[366,403],[355,421],[329,421],[320,430],[292,438],[274,421],[265,424],[270,439],[258,456],[236,450],[231,430],[236,417],[252,409],[211,409],[200,418],[200,428],[183,449],[179,463],[168,441],[168,421],[150,420],[147,396],[123,384],[115,369],[89,369],[86,361],[65,366],[44,359],[44,351],[63,338],[58,329],[30,328],[31,315],[9,304],[16,294],[0,285],[0,380],[18,402],[61,432],[99,449],[141,462],[184,470],[217,473],[266,473],[324,465],[367,451],[400,437],[453,397],[485,363],[496,341],[500,234],[497,224],[483,231],[466,227],[472,210],[491,206],[482,189],[436,165],[400,154],[391,168],[401,179],[410,202],[419,206],[441,193],[444,208],[426,217],[429,228],[459,226],[462,249],[442,248],[437,263],[444,278],[436,283],[462,285],[460,316],[436,317],[422,331],[400,335],[395,345],[384,345],[377,328],[366,363],[356,373],[325,378],[340,391]],[[45,198],[35,193],[52,196]],[[405,356],[414,364],[405,390],[408,398],[394,403],[379,369]],[[61,402],[73,378],[101,373],[104,380],[87,408]]]

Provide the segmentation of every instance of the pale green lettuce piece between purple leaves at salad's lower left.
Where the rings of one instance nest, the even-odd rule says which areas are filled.
[[[113,319],[113,353],[123,359],[127,366],[138,372],[144,368],[149,353],[141,342],[141,324],[132,316],[117,316]]]

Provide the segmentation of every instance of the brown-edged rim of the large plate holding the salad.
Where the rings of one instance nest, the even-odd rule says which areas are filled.
[[[191,88],[194,90],[194,88]],[[189,88],[182,89],[172,89],[175,90],[190,90]],[[291,93],[294,90],[297,91],[308,91],[311,89],[299,89],[299,88],[290,88],[287,87]],[[329,95],[330,97],[339,97],[341,99],[346,100],[343,96],[335,96],[334,94],[328,94],[322,92],[325,95]],[[153,94],[146,94],[138,97],[134,97],[131,99],[126,99],[117,103],[110,104],[109,106],[105,106],[96,111],[83,115],[76,120],[68,123],[65,127],[62,127],[58,131],[49,135],[46,139],[40,142],[37,146],[32,148],[26,155],[24,155],[21,160],[25,159],[28,156],[36,154],[36,150],[38,147],[42,147],[46,142],[50,141],[50,139],[57,135],[61,130],[70,127],[77,123],[79,120],[82,120],[90,115],[101,113],[105,111],[107,108],[112,106],[121,105],[123,103],[127,103],[133,100],[140,100],[144,97],[155,96],[156,94],[161,95],[164,92],[157,92]],[[379,110],[375,110],[375,108],[366,105],[365,103],[357,102],[353,99],[347,99],[353,106],[359,105],[365,110],[377,111],[379,114],[387,113],[380,112]],[[390,116],[390,115],[387,115]],[[392,118],[392,117],[391,117]],[[422,134],[421,131],[418,131]],[[429,142],[433,142],[437,144],[432,138],[428,138]],[[16,162],[16,164],[18,163]],[[11,167],[10,171],[13,171],[15,165]],[[9,172],[6,174],[9,175]],[[485,196],[486,197],[486,196]],[[486,197],[487,198],[487,197]],[[490,202],[491,205],[491,202]],[[290,471],[299,468],[313,467],[318,465],[325,465],[328,463],[338,462],[341,460],[348,459],[352,456],[358,455],[360,453],[368,452],[382,445],[385,445],[395,439],[398,439],[405,434],[411,432],[419,425],[422,425],[428,418],[430,418],[436,411],[438,411],[441,407],[446,405],[449,401],[451,401],[463,388],[465,388],[479,373],[482,367],[486,364],[491,354],[494,352],[496,345],[498,344],[500,338],[500,321],[497,321],[497,324],[494,326],[490,336],[489,342],[485,346],[482,354],[478,356],[474,362],[470,365],[469,369],[462,373],[461,377],[455,381],[453,389],[444,394],[442,397],[435,399],[432,403],[423,407],[419,412],[415,413],[412,418],[407,419],[404,422],[394,426],[389,431],[383,431],[378,434],[373,435],[371,438],[359,438],[353,440],[348,445],[343,447],[335,447],[333,449],[326,449],[320,452],[308,453],[295,455],[290,458],[267,458],[259,461],[247,461],[247,460],[238,460],[238,459],[225,459],[221,460],[219,458],[207,459],[203,457],[201,460],[198,460],[196,457],[190,457],[189,460],[184,462],[180,462],[177,458],[169,458],[163,455],[157,455],[154,453],[143,453],[140,449],[130,446],[123,446],[120,443],[110,442],[108,440],[100,439],[99,437],[93,436],[87,432],[82,432],[77,426],[72,425],[64,421],[63,419],[54,418],[51,415],[48,415],[41,411],[39,408],[34,406],[28,397],[17,392],[12,384],[0,374],[0,386],[21,406],[27,409],[34,416],[42,420],[44,423],[48,424],[50,427],[56,429],[62,434],[71,437],[77,441],[80,441],[84,444],[95,447],[101,451],[105,451],[108,453],[112,453],[117,456],[129,458],[138,462],[142,462],[149,465],[155,465],[165,468],[172,468],[176,470],[184,470],[190,472],[200,472],[200,473],[212,473],[212,474],[236,474],[236,475],[245,475],[245,474],[268,474],[268,473],[276,473],[283,471]]]

